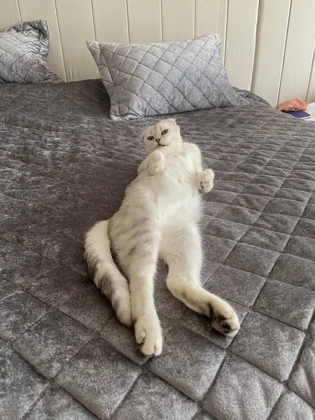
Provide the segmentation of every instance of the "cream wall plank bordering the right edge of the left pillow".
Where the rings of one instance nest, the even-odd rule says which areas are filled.
[[[66,80],[54,0],[19,0],[19,6],[23,21],[36,19],[48,20],[50,31],[48,66],[63,80]]]

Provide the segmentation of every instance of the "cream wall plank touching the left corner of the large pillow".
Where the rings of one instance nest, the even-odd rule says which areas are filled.
[[[91,1],[55,0],[55,3],[66,79],[70,81],[97,78],[97,66],[85,44],[87,40],[94,40]]]

